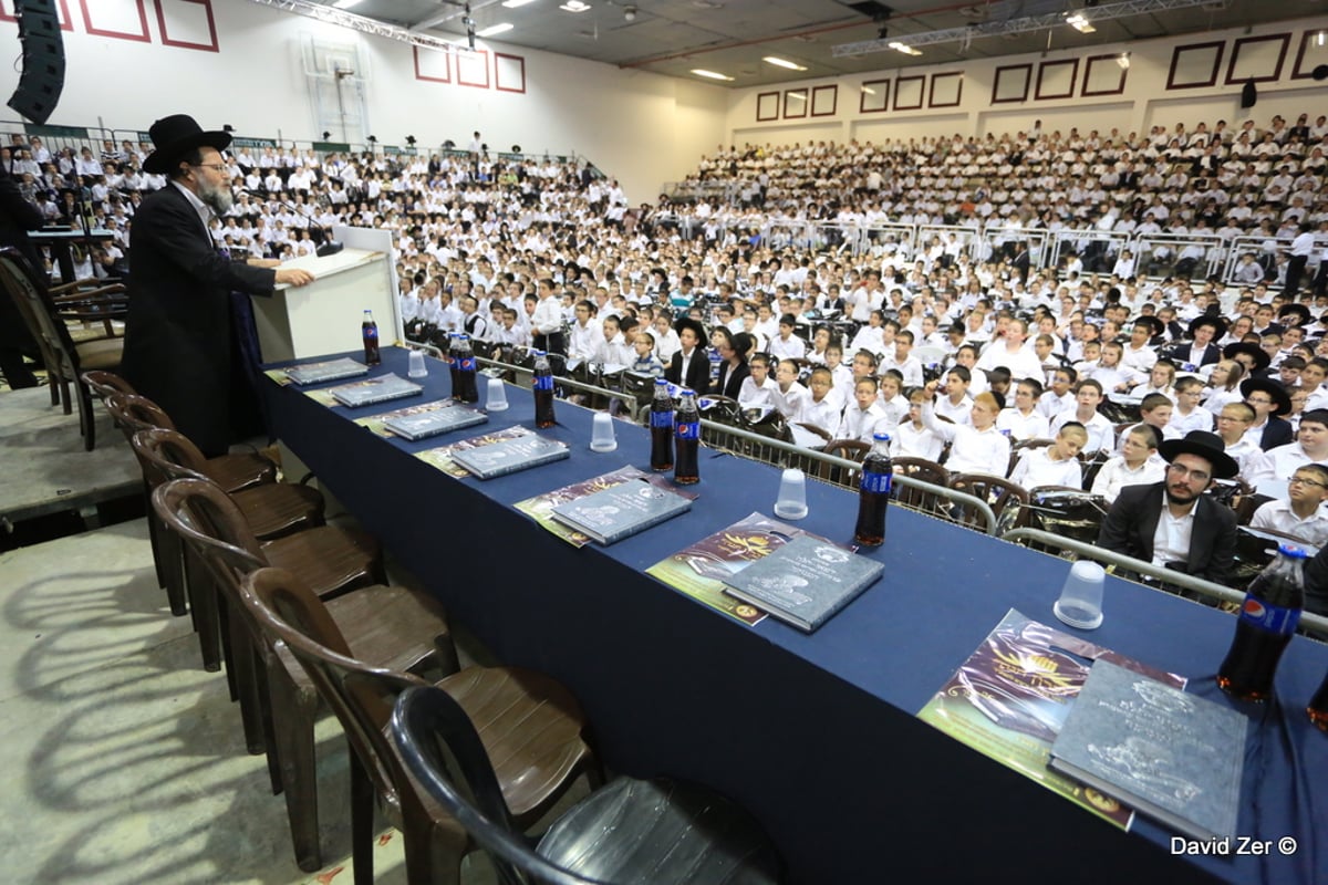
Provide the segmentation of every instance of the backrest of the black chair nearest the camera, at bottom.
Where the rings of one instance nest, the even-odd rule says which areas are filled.
[[[602,885],[540,857],[507,812],[470,716],[446,691],[412,687],[397,698],[392,738],[406,770],[493,860],[503,885]]]

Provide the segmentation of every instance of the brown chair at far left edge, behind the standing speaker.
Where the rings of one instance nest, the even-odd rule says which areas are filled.
[[[17,249],[0,249],[0,285],[9,293],[40,345],[41,360],[53,387],[50,403],[56,403],[54,387],[58,387],[66,415],[72,411],[69,389],[73,386],[78,399],[78,430],[84,438],[84,448],[92,451],[97,444],[97,422],[92,411],[92,394],[80,375],[85,369],[117,369],[125,340],[101,338],[74,344],[65,320],[56,316],[45,283],[39,281],[32,265]]]

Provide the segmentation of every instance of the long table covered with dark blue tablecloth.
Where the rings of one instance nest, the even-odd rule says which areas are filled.
[[[353,354],[352,354],[353,356]],[[424,399],[446,395],[430,360]],[[406,373],[401,350],[382,372]],[[376,373],[377,374],[377,370]],[[570,459],[489,482],[454,479],[414,452],[481,429],[409,443],[382,439],[301,390],[266,386],[276,435],[364,525],[506,663],[571,687],[607,764],[717,788],[750,809],[780,845],[791,878],[811,885],[895,881],[1328,881],[1328,735],[1305,701],[1328,649],[1297,638],[1278,677],[1286,705],[1243,707],[1259,727],[1246,751],[1239,832],[1293,836],[1289,857],[1174,857],[1170,833],[1137,821],[1121,832],[916,719],[1008,609],[1056,626],[1069,564],[895,508],[886,544],[863,555],[884,577],[818,632],[774,618],[752,628],[643,571],[752,511],[769,513],[778,471],[703,450],[689,513],[607,548],[576,549],[514,502],[624,464],[645,466],[644,430],[615,422],[619,448],[588,450],[591,413],[558,403],[540,431]],[[529,391],[483,430],[533,427]],[[809,531],[847,541],[855,498],[809,483]],[[1101,629],[1085,634],[1223,698],[1214,670],[1234,620],[1109,579]],[[1069,628],[1062,628],[1069,629]],[[1321,840],[1323,837],[1317,837]]]

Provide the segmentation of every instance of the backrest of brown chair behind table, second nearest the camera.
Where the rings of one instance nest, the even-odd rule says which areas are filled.
[[[165,486],[162,487],[165,488]],[[428,682],[355,658],[323,601],[286,569],[263,568],[240,584],[240,604],[264,637],[284,642],[332,707],[378,795],[398,815],[422,813],[385,728],[401,691]]]

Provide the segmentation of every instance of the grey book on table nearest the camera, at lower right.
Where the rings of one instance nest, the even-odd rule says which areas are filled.
[[[1248,727],[1230,707],[1097,661],[1048,764],[1183,836],[1227,839]]]

